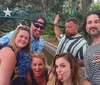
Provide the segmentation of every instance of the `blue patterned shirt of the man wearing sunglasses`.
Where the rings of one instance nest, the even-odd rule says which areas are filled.
[[[7,33],[5,36],[0,38],[0,44],[5,46],[11,39],[12,34],[14,31],[11,31]],[[36,51],[42,51],[44,47],[44,39],[42,37],[39,37],[38,40],[35,40],[32,36],[31,38],[31,52]],[[19,71],[19,77],[25,77],[26,72],[28,71],[28,68],[31,64],[31,57],[28,52],[25,52],[23,50],[19,51],[17,54],[17,62],[18,62],[18,71]]]

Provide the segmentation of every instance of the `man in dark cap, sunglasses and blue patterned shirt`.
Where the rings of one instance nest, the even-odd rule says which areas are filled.
[[[46,26],[46,20],[42,16],[35,17],[31,23],[31,52],[42,51],[44,47],[44,39],[41,35],[44,33]],[[14,31],[7,33],[5,36],[0,38],[0,47],[5,46],[11,39]],[[26,53],[24,50],[18,52],[17,55],[17,74],[18,80],[11,85],[25,85],[22,79],[25,78],[26,73],[30,67],[31,57],[29,53]]]

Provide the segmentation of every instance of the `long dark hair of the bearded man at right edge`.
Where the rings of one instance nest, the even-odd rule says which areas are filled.
[[[84,31],[84,34],[86,35],[86,37],[87,37],[87,35],[88,35],[88,33],[87,33],[87,31],[86,31],[86,21],[87,21],[87,17],[90,16],[90,15],[92,15],[92,14],[97,15],[98,18],[100,19],[100,10],[99,10],[99,11],[91,11],[91,12],[89,12],[89,13],[86,15],[85,20],[84,20],[84,22],[83,22],[83,24],[82,24],[82,27],[81,27],[82,30]],[[89,36],[89,35],[88,35],[88,36]]]

